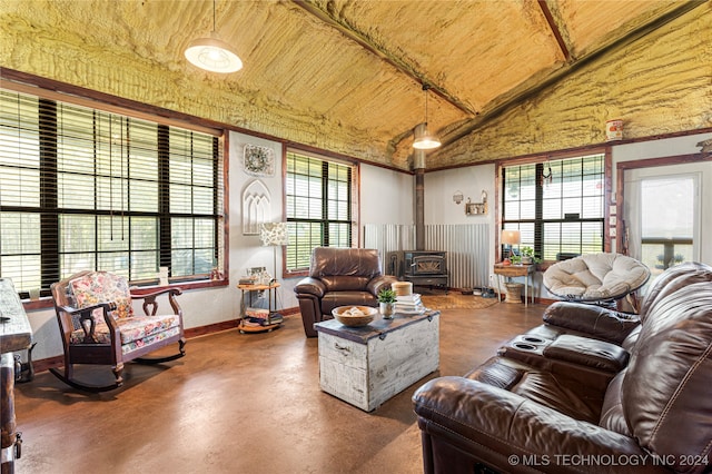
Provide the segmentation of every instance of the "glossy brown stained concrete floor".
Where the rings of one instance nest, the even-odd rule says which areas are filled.
[[[298,315],[271,333],[190,339],[186,357],[162,366],[127,364],[125,386],[110,393],[41,373],[16,386],[16,472],[419,473],[413,392],[465,374],[543,309],[444,309],[441,369],[372,413],[319,389],[317,339],[304,337]]]

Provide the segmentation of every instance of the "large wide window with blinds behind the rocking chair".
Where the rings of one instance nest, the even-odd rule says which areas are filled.
[[[217,136],[0,93],[0,276],[18,292],[82,269],[152,283],[222,266]]]

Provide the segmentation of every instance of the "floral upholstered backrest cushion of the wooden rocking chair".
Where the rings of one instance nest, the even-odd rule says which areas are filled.
[[[86,308],[98,303],[116,303],[111,312],[115,319],[134,316],[129,284],[122,276],[107,271],[92,271],[69,282],[69,292],[77,302],[77,308]],[[97,317],[98,316],[98,317]],[[101,312],[95,313],[97,323],[101,323]]]

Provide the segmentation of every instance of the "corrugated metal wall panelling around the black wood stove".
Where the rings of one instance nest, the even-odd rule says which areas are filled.
[[[415,249],[415,226],[367,224],[364,247],[380,251],[384,269],[390,251]],[[453,288],[483,288],[490,283],[490,226],[487,224],[427,225],[425,250],[447,251],[449,285]]]

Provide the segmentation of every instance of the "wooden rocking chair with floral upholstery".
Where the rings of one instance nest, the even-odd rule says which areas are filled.
[[[55,310],[65,349],[63,371],[50,368],[60,381],[87,392],[107,392],[123,384],[123,363],[158,364],[182,357],[186,339],[182,310],[176,300],[179,288],[132,295],[126,278],[107,271],[81,271],[51,286]],[[157,315],[156,297],[168,295],[172,313]],[[134,315],[131,302],[144,299],[145,316]],[[144,357],[169,344],[178,353],[165,357]],[[110,365],[116,381],[92,385],[75,378],[73,364]]]

